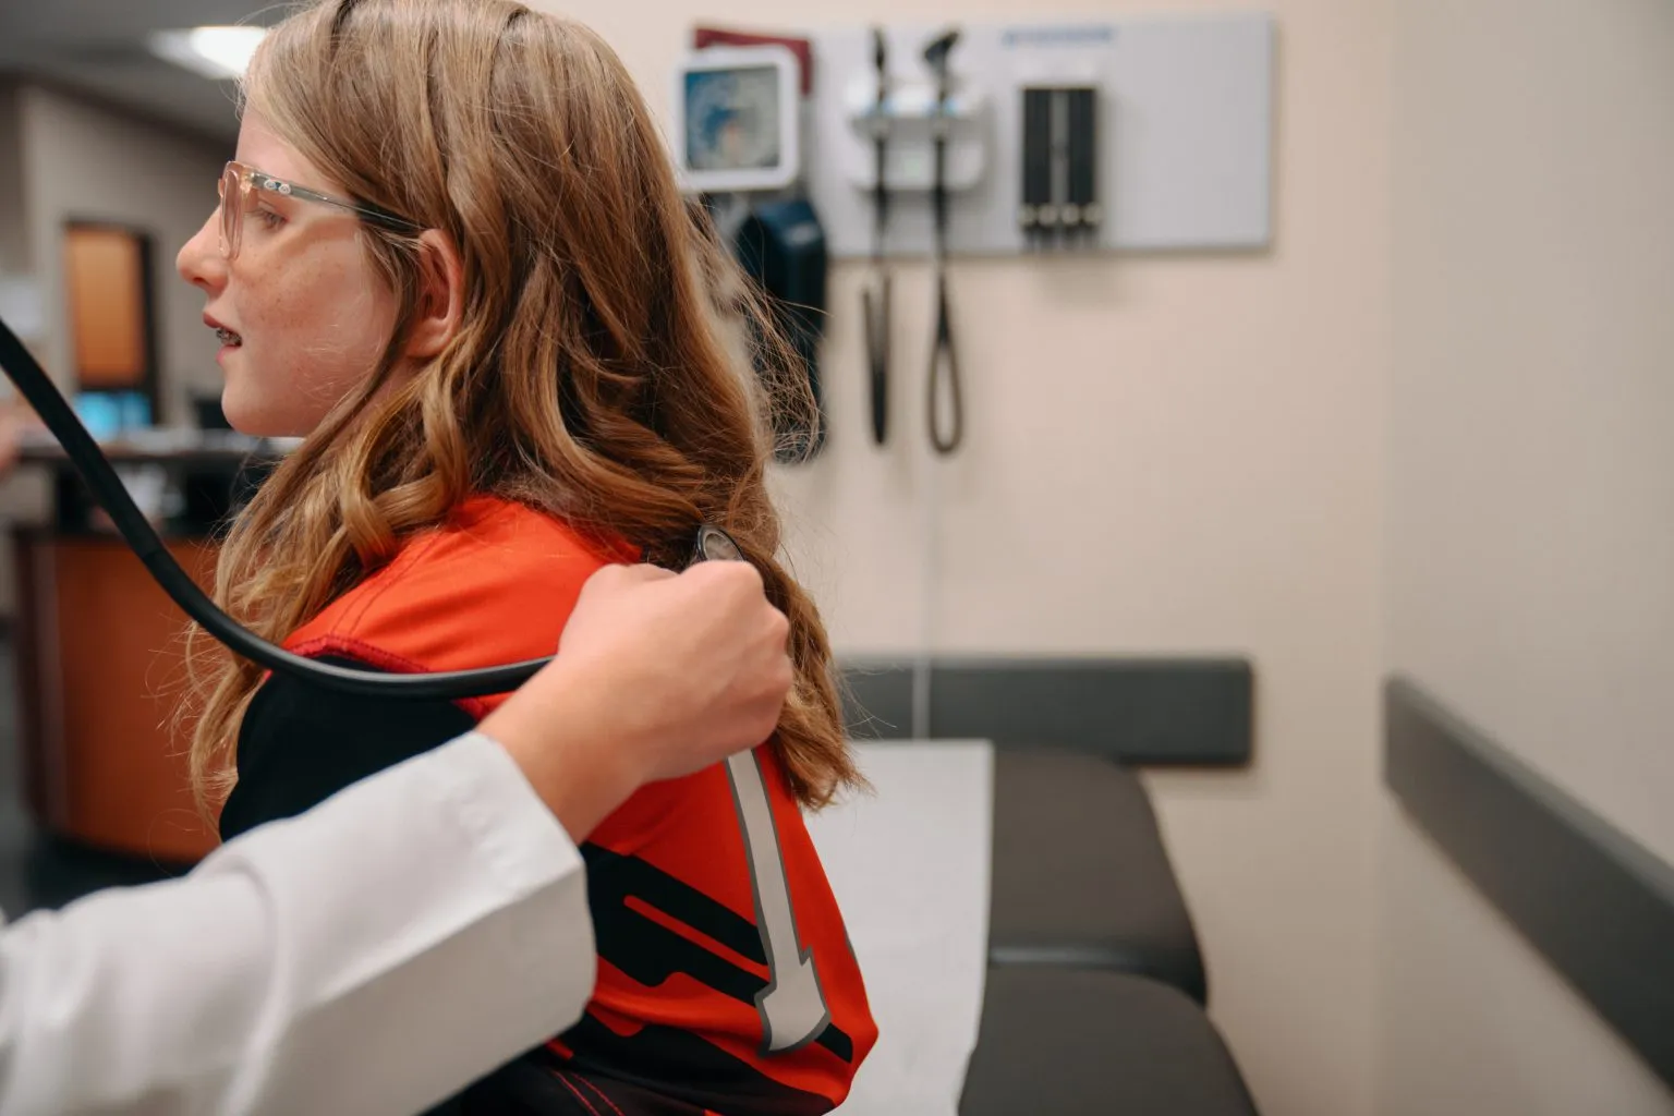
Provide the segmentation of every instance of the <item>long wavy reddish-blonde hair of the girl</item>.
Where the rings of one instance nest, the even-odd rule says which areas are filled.
[[[790,617],[797,681],[775,746],[797,796],[822,805],[857,781],[830,646],[778,561],[765,487],[765,412],[805,380],[681,196],[616,54],[512,0],[321,0],[266,37],[244,99],[357,199],[445,233],[464,264],[464,316],[418,375],[393,378],[418,239],[362,226],[397,296],[395,330],[365,383],[231,525],[218,602],[283,641],[472,494],[628,540],[650,561],[678,561],[695,527],[716,522]],[[752,363],[777,370],[765,380],[777,393]],[[213,810],[236,778],[263,671],[201,632],[187,658],[193,785]]]

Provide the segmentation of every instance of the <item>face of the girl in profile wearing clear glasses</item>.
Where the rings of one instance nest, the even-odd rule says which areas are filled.
[[[345,197],[254,112],[238,132],[238,162],[281,182]],[[226,191],[224,206],[239,206]],[[360,219],[338,206],[251,189],[233,258],[218,207],[181,248],[181,278],[203,289],[204,325],[221,333],[221,407],[234,430],[303,437],[378,365],[395,296],[367,259]]]

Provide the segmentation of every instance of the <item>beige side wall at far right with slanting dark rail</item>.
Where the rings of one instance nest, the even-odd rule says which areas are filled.
[[[1674,7],[1403,0],[1389,661],[1674,858]],[[1674,1113],[1399,813],[1386,1113]]]

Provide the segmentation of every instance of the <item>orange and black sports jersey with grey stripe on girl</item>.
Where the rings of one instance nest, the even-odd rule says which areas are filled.
[[[286,648],[385,671],[541,658],[604,561],[547,515],[472,499]],[[365,698],[273,674],[239,729],[221,833],[301,813],[497,701]],[[641,788],[581,852],[599,950],[586,1016],[437,1113],[800,1116],[842,1103],[877,1027],[768,745]]]

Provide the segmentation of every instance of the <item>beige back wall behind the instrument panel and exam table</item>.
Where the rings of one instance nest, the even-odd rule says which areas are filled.
[[[1018,12],[1009,0],[551,7],[599,28],[660,110],[698,17],[783,28]],[[969,442],[934,479],[931,577],[919,407],[931,291],[922,269],[899,278],[901,437],[879,452],[865,433],[860,271],[839,268],[824,360],[832,445],[780,489],[797,569],[844,649],[911,651],[929,607],[941,649],[1254,659],[1254,770],[1152,781],[1214,1016],[1264,1111],[1354,1116],[1371,1106],[1373,1052],[1388,0],[1261,7],[1281,33],[1276,249],[959,264]]]

